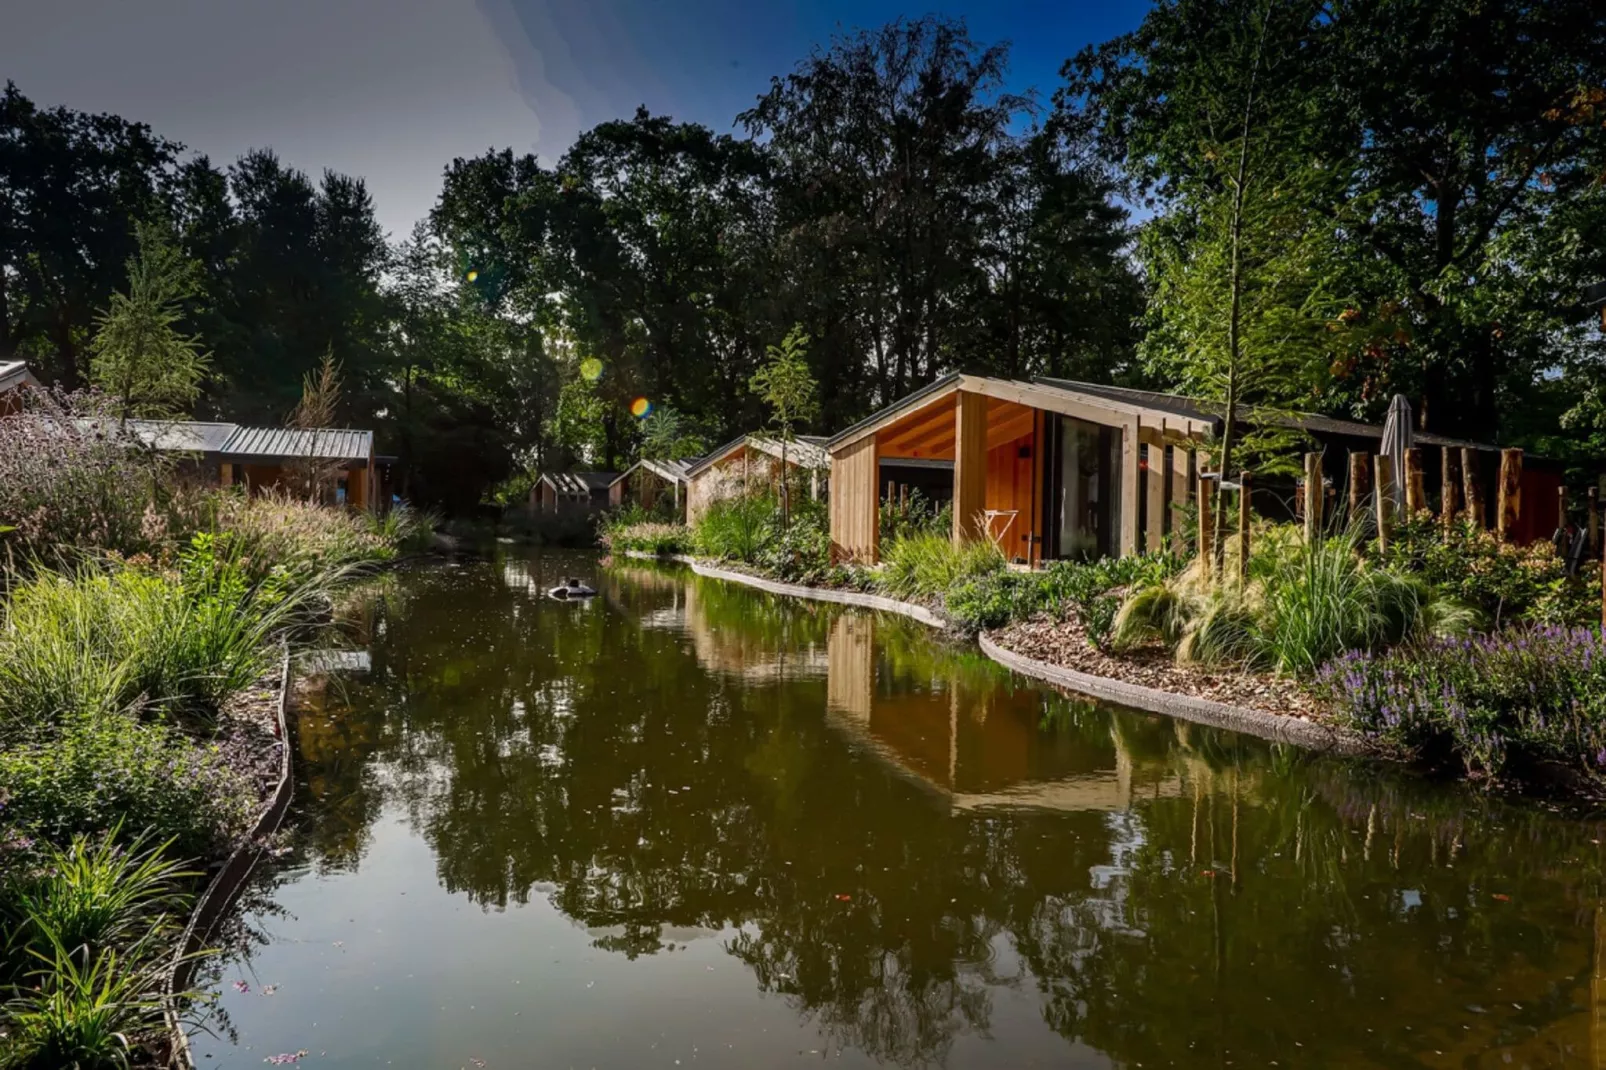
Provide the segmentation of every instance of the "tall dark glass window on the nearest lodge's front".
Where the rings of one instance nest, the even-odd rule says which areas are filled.
[[[1087,561],[1116,553],[1121,530],[1121,431],[1050,416],[1044,456],[1046,556]]]

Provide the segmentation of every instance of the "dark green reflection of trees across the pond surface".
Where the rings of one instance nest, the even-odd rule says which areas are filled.
[[[686,631],[639,625],[686,609],[686,628],[763,660],[824,651],[834,612],[713,583],[687,598],[615,578],[612,604],[581,612],[495,575],[410,585],[411,615],[352,686],[361,712],[310,747],[304,734],[324,864],[360,853],[353,829],[389,792],[440,880],[487,909],[544,893],[626,956],[666,929],[734,929],[726,946],[763,990],[899,1065],[989,1028],[991,988],[1012,983],[993,972],[997,941],[1054,1030],[1124,1064],[1290,1065],[1294,1041],[1323,1065],[1587,1044],[1593,826],[1041,696],[988,713],[1028,720],[1029,768],[1124,766],[1177,789],[1131,808],[951,813],[829,726],[813,672],[707,672]],[[896,627],[877,644],[870,662],[834,660],[874,665],[870,702],[999,680]],[[994,739],[956,725],[965,745]],[[1495,983],[1521,994],[1497,1001]]]

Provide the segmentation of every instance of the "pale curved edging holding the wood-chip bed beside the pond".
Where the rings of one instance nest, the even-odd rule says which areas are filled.
[[[1328,725],[1317,725],[1298,717],[1278,717],[1264,710],[1251,710],[1241,705],[1216,702],[1213,699],[1196,699],[1187,694],[1145,688],[1142,684],[1113,680],[1110,676],[1094,676],[1092,673],[1050,665],[1036,659],[1009,651],[994,643],[986,635],[978,636],[981,652],[999,665],[1023,676],[1042,680],[1071,691],[1119,702],[1150,713],[1164,713],[1196,725],[1227,728],[1245,736],[1257,736],[1272,742],[1294,744],[1310,750],[1327,750],[1335,753],[1370,753],[1373,749],[1354,733],[1346,733]]]

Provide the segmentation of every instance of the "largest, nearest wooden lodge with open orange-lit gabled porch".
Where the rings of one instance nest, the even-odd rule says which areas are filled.
[[[1347,451],[1376,451],[1381,427],[1310,415],[1249,413],[1315,440],[1325,488],[1343,487]],[[1195,398],[1039,378],[1031,382],[951,374],[853,424],[824,443],[830,455],[830,540],[842,561],[875,562],[880,503],[896,495],[899,469],[922,468],[952,487],[954,540],[991,538],[1017,564],[1102,557],[1185,545],[1187,506],[1196,501],[1201,448],[1221,416]],[[1418,434],[1473,461],[1494,488],[1500,451]],[[1439,466],[1421,474],[1437,495]],[[1445,471],[1450,471],[1449,468]],[[1548,538],[1559,522],[1556,466],[1521,471],[1522,516],[1513,541]],[[1256,508],[1275,514],[1275,495]],[[1270,490],[1270,488],[1264,488]],[[1320,493],[1320,492],[1319,492]],[[1484,495],[1486,514],[1494,493]]]

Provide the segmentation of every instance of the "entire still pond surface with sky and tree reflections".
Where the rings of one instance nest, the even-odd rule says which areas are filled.
[[[201,1065],[1606,1065],[1593,818],[681,570],[358,617]]]

